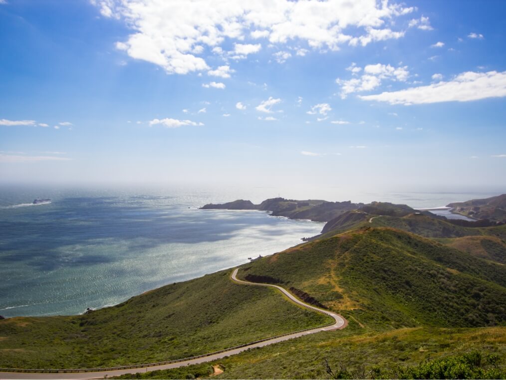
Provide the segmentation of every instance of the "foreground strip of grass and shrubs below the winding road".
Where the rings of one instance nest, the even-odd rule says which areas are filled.
[[[209,378],[216,364],[225,369],[216,379],[330,378],[325,359],[334,373],[345,369],[342,378],[445,378],[436,372],[440,368],[456,378],[506,378],[505,327],[364,330],[355,323],[216,362],[120,378]],[[455,372],[462,367],[469,371]],[[431,372],[437,375],[425,377]]]

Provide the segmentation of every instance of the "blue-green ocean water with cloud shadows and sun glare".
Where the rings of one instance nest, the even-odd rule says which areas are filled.
[[[238,198],[260,202],[273,188],[0,188],[0,315],[82,313],[165,284],[213,273],[301,243],[324,223],[261,211],[199,210]],[[331,201],[384,200],[441,206],[490,194],[358,193]],[[286,191],[286,198],[310,198]],[[494,194],[491,194],[494,195]],[[31,205],[35,198],[49,204]],[[311,197],[318,198],[318,197]]]

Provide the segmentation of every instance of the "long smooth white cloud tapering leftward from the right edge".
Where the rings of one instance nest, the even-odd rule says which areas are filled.
[[[506,96],[506,71],[468,71],[458,74],[448,82],[359,97],[363,100],[410,105],[447,101],[465,102],[504,96]]]

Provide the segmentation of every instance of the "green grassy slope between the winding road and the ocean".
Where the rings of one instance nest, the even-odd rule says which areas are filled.
[[[0,321],[0,367],[90,368],[180,359],[319,326],[326,316],[230,271],[167,285],[87,315]]]

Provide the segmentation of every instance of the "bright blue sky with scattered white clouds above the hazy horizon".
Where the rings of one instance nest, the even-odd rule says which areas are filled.
[[[505,34],[492,0],[0,0],[0,183],[500,192]]]

